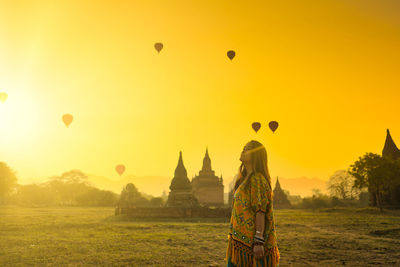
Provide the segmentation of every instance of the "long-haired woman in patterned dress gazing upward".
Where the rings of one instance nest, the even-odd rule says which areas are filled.
[[[248,142],[240,160],[225,261],[228,267],[277,267],[280,255],[265,147],[255,140]]]

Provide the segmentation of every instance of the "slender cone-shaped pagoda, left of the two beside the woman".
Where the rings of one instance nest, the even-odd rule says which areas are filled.
[[[175,168],[175,176],[169,187],[171,190],[166,203],[167,207],[192,207],[198,206],[198,200],[192,194],[192,185],[187,177],[187,171],[183,165],[182,151],[179,152],[178,165]]]

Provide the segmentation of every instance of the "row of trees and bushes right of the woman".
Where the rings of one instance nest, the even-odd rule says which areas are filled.
[[[293,208],[364,207],[385,205],[400,207],[400,158],[365,153],[347,170],[338,170],[327,181],[329,195],[314,189],[311,197],[291,196]],[[397,194],[392,194],[397,192]],[[388,200],[388,201],[384,201]]]

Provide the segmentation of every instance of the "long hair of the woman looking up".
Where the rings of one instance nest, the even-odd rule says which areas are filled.
[[[265,150],[265,147],[256,140],[251,140],[247,144],[250,147],[248,153],[250,153],[250,158],[252,163],[251,165],[253,167],[253,169],[250,171],[250,175],[254,175],[256,172],[262,173],[264,178],[267,180],[269,187],[272,189],[271,176],[269,175],[268,171],[267,151]],[[240,186],[246,175],[247,175],[247,170],[244,166],[244,163],[242,162],[242,164],[240,164],[239,167],[239,172],[235,182],[234,191],[236,191],[236,189]]]

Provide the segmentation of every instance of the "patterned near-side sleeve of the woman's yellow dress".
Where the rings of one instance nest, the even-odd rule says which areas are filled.
[[[268,195],[271,189],[267,184],[267,180],[261,173],[255,173],[250,179],[250,202],[254,212],[267,211],[267,206],[270,203]]]

